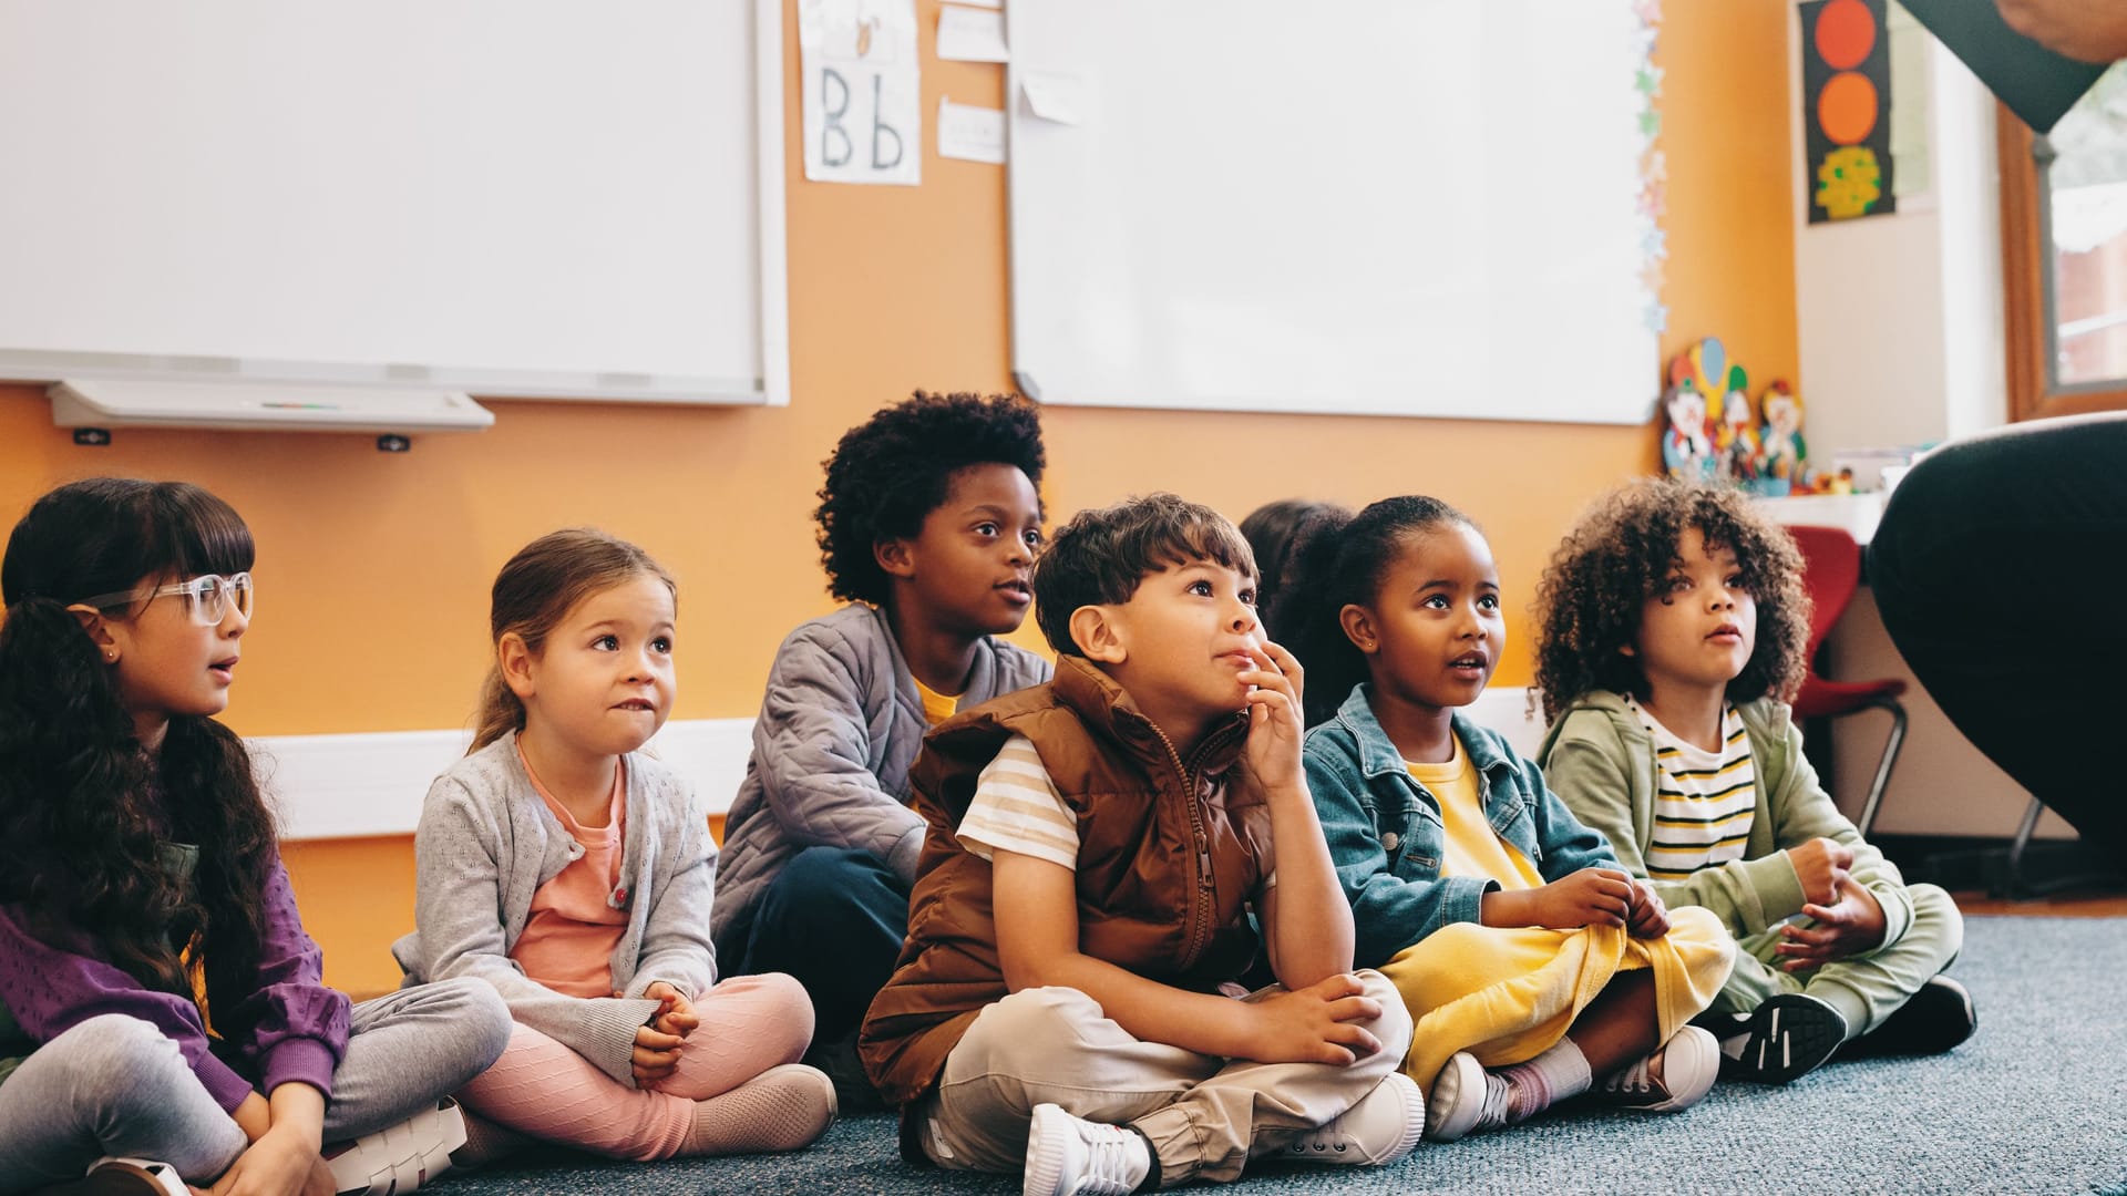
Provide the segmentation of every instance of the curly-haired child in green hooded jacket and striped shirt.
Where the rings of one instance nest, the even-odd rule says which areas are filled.
[[[1723,1075],[1787,1083],[1844,1045],[1933,1053],[1972,1036],[1946,975],[1957,904],[1906,885],[1840,815],[1782,698],[1804,675],[1793,541],[1734,489],[1651,481],[1602,498],[1538,592],[1544,773],[1670,904],[1714,911],[1736,970],[1702,1026]]]

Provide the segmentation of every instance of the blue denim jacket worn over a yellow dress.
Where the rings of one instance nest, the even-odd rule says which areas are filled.
[[[1329,860],[1351,900],[1353,966],[1378,968],[1451,921],[1478,921],[1478,904],[1500,881],[1440,875],[1446,849],[1440,800],[1419,785],[1380,730],[1368,690],[1355,685],[1336,717],[1308,732],[1304,760]],[[1534,762],[1459,711],[1453,721],[1478,773],[1491,828],[1546,883],[1580,868],[1619,866],[1610,841],[1574,819]]]

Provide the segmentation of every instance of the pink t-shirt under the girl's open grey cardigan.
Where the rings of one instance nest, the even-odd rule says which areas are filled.
[[[523,749],[517,751],[517,760],[523,762]],[[530,762],[525,777],[532,777],[532,787],[553,817],[562,819],[562,828],[583,845],[583,856],[532,894],[532,915],[510,947],[510,958],[527,977],[564,996],[613,996],[613,951],[627,930],[627,898],[619,898],[621,909],[608,902],[621,885],[627,762],[613,770],[606,826],[583,826],[570,817],[532,773]]]

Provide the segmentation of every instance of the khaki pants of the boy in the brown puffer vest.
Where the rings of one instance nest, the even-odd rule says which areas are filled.
[[[991,1004],[947,1056],[917,1109],[923,1153],[953,1170],[1021,1170],[1036,1104],[1132,1124],[1159,1156],[1161,1185],[1238,1179],[1249,1156],[1283,1149],[1359,1102],[1410,1045],[1410,1013],[1380,973],[1357,973],[1380,1017],[1380,1051],[1351,1066],[1221,1060],[1144,1043],[1072,987],[1032,987]],[[1261,990],[1249,1000],[1283,992]]]

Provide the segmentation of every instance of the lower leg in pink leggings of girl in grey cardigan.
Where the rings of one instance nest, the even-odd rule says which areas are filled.
[[[530,1026],[457,1098],[519,1134],[636,1162],[672,1158],[693,1132],[693,1100],[627,1087]]]

